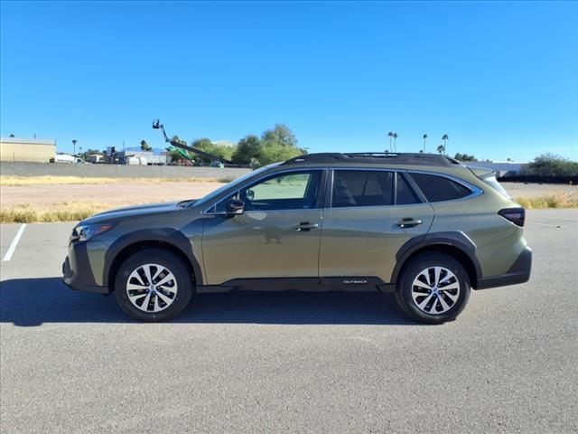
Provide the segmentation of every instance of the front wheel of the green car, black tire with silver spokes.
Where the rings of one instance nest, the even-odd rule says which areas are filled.
[[[145,288],[150,283],[146,282],[147,270],[153,285]],[[159,275],[154,278],[157,272]],[[163,280],[166,282],[163,283]],[[156,287],[155,283],[161,285]],[[143,288],[129,290],[129,284],[131,288]],[[139,321],[171,320],[189,305],[193,292],[191,268],[170,250],[140,250],[123,262],[115,277],[118,306],[127,316]],[[145,301],[147,303],[144,307]],[[155,309],[161,310],[154,312]]]

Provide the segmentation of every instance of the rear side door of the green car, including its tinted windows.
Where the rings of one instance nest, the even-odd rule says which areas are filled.
[[[320,277],[335,284],[350,277],[388,283],[397,251],[432,225],[432,206],[394,170],[335,169],[329,184]]]

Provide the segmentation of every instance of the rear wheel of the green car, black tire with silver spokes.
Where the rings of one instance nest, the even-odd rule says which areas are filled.
[[[436,280],[436,268],[439,287],[437,283],[432,284]],[[470,278],[461,263],[449,255],[431,252],[412,259],[404,269],[397,282],[396,300],[415,321],[443,324],[460,315],[470,292]]]

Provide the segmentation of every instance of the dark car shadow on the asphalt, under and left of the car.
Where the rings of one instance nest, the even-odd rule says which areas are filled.
[[[132,322],[115,297],[76,292],[61,278],[14,278],[0,283],[0,323]],[[199,294],[173,323],[286,325],[416,325],[394,297],[373,292],[230,292]]]

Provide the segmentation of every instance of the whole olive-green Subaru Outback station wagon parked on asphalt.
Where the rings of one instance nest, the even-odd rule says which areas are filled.
[[[200,200],[102,212],[72,232],[64,281],[163,321],[194,293],[393,293],[407,316],[455,319],[471,288],[526,282],[525,211],[487,169],[428,154],[312,154]]]

